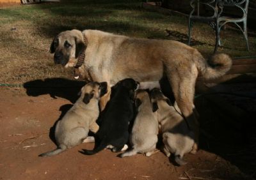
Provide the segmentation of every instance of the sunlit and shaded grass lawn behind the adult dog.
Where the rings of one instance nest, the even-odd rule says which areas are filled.
[[[51,77],[72,78],[72,70],[55,66],[47,53],[52,38],[69,29],[99,29],[140,38],[187,42],[186,17],[162,15],[141,8],[141,1],[61,1],[0,10],[0,82],[21,83]],[[11,30],[15,28],[15,30]],[[170,32],[169,36],[166,29]],[[214,31],[206,24],[195,24],[192,38],[205,57],[212,54]],[[221,31],[225,52],[232,57],[255,56],[256,38],[249,37],[246,51],[243,34]]]

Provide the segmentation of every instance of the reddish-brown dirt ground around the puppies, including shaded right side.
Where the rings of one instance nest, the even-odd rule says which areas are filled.
[[[61,84],[60,79],[48,81]],[[65,80],[61,82],[67,84]],[[50,158],[38,157],[56,147],[51,127],[76,101],[83,83],[75,83],[77,88],[74,84],[72,88],[50,88],[47,80],[29,82],[25,90],[0,87],[0,179],[253,179],[255,176],[256,141],[252,142],[253,135],[256,137],[252,131],[255,123],[247,121],[247,117],[240,119],[240,115],[234,114],[236,118],[229,116],[229,112],[223,113],[211,98],[204,97],[196,98],[202,128],[200,151],[186,154],[184,158],[189,163],[183,167],[176,166],[161,151],[150,157],[137,154],[127,158],[118,158],[118,153],[108,149],[93,156],[78,152],[92,149],[93,143],[81,144]],[[256,89],[255,84],[251,86]],[[242,108],[248,104],[240,102]],[[229,101],[229,104],[234,103]],[[256,107],[255,103],[250,105]],[[255,113],[254,110],[251,108],[248,113]],[[251,115],[248,119],[254,118]]]

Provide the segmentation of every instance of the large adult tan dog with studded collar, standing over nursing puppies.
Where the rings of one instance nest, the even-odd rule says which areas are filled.
[[[215,54],[206,61],[198,50],[179,41],[130,38],[97,30],[64,31],[54,38],[50,52],[55,53],[54,62],[65,67],[76,66],[77,59],[84,57],[79,68],[81,77],[108,82],[108,93],[100,100],[101,109],[109,100],[110,87],[119,80],[155,82],[166,75],[180,111],[191,122],[196,121],[193,100],[198,74],[213,79],[232,66],[226,54]]]

